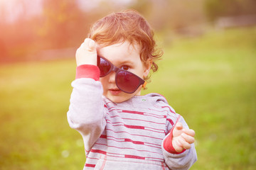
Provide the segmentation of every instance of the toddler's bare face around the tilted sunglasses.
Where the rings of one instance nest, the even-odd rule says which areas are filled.
[[[129,42],[117,43],[107,47],[98,48],[97,53],[112,62],[114,66],[125,69],[129,72],[136,74],[142,79],[149,74],[151,64],[144,64],[140,59],[139,45],[130,45]],[[142,86],[137,89],[133,94],[127,94],[120,91],[115,83],[115,72],[110,72],[105,77],[101,77],[100,81],[103,86],[103,95],[115,103],[127,101],[135,95],[140,95]]]

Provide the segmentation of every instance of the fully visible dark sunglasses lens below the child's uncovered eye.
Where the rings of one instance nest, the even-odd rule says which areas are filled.
[[[139,86],[139,77],[129,72],[120,71],[117,73],[116,84],[122,91],[132,94]]]

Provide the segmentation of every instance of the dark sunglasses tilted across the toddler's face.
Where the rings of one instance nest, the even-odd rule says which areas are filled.
[[[97,67],[100,69],[100,77],[105,77],[107,74],[114,71],[117,87],[127,94],[133,94],[141,85],[143,85],[143,87],[146,86],[146,81],[144,81],[144,79],[138,77],[132,72],[115,67],[104,57],[97,57]]]

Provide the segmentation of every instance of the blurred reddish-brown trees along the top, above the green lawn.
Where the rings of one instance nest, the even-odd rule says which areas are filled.
[[[0,62],[40,60],[43,50],[71,51],[87,37],[92,23],[124,8],[136,9],[156,31],[166,35],[202,35],[207,26],[218,26],[221,17],[247,16],[255,21],[256,15],[255,0],[1,0],[0,3]]]

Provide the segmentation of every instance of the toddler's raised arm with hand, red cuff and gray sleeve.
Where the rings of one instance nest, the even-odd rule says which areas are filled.
[[[86,38],[75,57],[78,67],[76,79],[71,84],[73,92],[70,97],[68,123],[71,128],[80,132],[85,149],[90,150],[106,125],[95,41]]]

